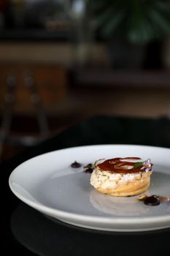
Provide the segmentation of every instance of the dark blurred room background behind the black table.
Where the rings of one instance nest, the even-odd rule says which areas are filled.
[[[1,160],[95,115],[170,117],[170,1],[0,0]]]

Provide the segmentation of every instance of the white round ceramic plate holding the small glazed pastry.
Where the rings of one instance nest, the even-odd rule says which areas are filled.
[[[72,168],[96,159],[141,157],[152,160],[148,195],[170,195],[170,149],[152,146],[99,145],[65,148],[19,165],[9,176],[12,192],[49,217],[107,231],[144,231],[170,227],[170,205],[146,206],[134,197],[112,197],[90,185],[90,173]]]

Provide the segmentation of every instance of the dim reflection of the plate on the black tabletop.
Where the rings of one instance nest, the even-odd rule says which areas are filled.
[[[15,238],[36,255],[148,255],[169,252],[170,229],[154,232],[115,233],[74,227],[49,219],[38,211],[20,203],[11,217]],[[112,246],[111,246],[112,245]]]

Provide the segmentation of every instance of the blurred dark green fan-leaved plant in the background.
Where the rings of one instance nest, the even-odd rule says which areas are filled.
[[[146,44],[170,34],[170,1],[90,0],[90,7],[104,38],[118,35]]]

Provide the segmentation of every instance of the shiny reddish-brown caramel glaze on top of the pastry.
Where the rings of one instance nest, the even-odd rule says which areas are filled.
[[[100,168],[100,170],[108,170],[112,173],[139,173],[139,172],[144,172],[144,170],[141,170],[141,167],[134,167],[136,162],[128,162],[128,161],[123,161],[123,160],[142,160],[140,157],[117,157],[117,158],[112,158],[112,159],[107,159],[101,164],[96,164],[97,167]],[[125,168],[125,165],[130,165],[132,166],[131,169]],[[124,167],[124,168],[123,168]]]

